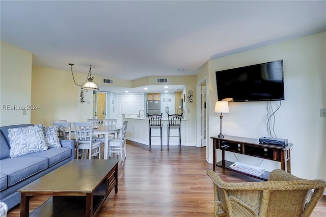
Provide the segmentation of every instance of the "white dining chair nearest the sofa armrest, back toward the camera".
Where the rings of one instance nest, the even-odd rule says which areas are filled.
[[[92,156],[99,155],[99,159],[101,159],[101,142],[92,140],[92,128],[93,125],[91,122],[74,122],[74,131],[75,131],[75,138],[77,143],[77,158],[79,156],[84,155],[86,159],[86,151],[89,151],[89,159]],[[79,150],[82,152],[79,153]],[[92,153],[93,151],[93,153]]]

